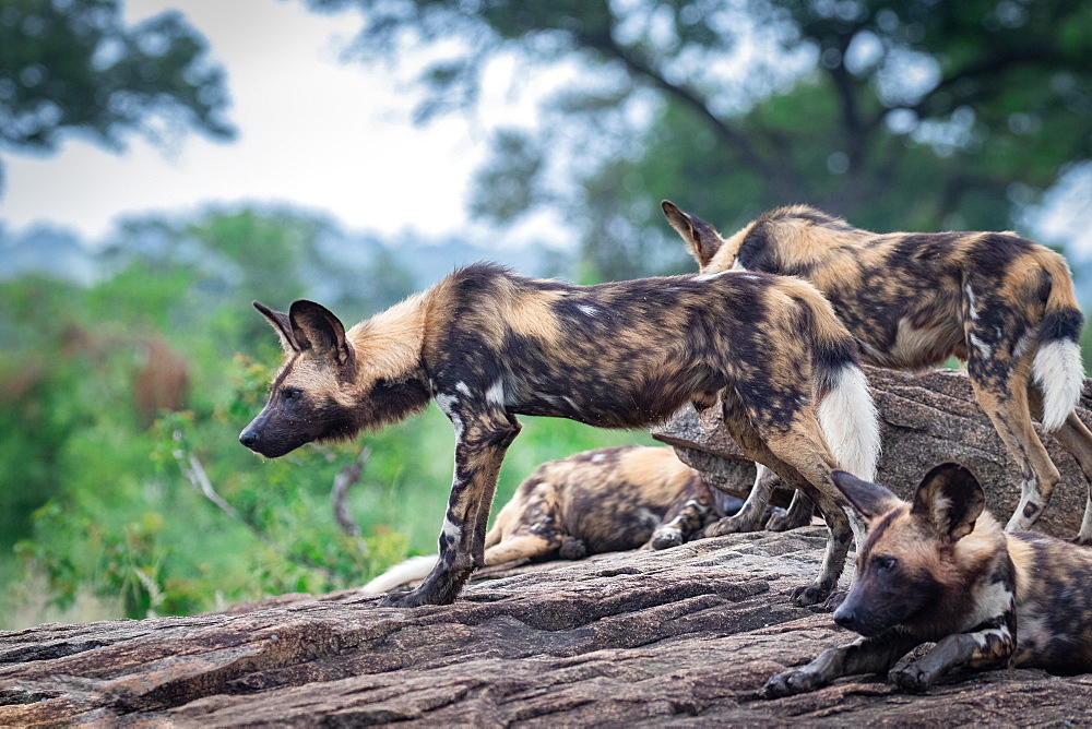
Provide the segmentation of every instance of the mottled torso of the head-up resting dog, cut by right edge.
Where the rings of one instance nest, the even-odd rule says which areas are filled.
[[[1017,579],[1017,666],[1092,671],[1092,549],[1034,533],[1007,536]]]

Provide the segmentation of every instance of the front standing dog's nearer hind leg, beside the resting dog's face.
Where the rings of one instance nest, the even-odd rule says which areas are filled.
[[[738,396],[724,394],[724,425],[747,457],[765,464],[790,486],[805,492],[827,522],[827,550],[815,582],[793,591],[799,606],[817,605],[831,596],[845,566],[845,555],[853,542],[850,517],[852,509],[839,494],[831,471],[838,466],[819,431],[818,420],[805,408],[788,426],[787,432],[762,423]],[[810,420],[810,427],[808,422]],[[829,607],[833,607],[832,605]]]

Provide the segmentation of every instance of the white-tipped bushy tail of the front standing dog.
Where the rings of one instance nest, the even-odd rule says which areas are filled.
[[[811,291],[807,301],[819,427],[842,470],[875,480],[880,455],[879,414],[857,360],[857,343],[822,295]]]

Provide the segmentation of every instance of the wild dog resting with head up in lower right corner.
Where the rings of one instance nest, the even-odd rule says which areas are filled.
[[[842,676],[888,672],[907,691],[957,667],[1092,671],[1092,550],[1041,534],[1007,534],[958,464],[930,470],[910,504],[882,486],[835,473],[868,518],[850,594],[834,621],[862,635],[770,679],[768,697],[814,691]],[[936,642],[913,662],[915,646]]]

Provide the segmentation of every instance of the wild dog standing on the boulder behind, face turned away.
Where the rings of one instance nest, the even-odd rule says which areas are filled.
[[[1058,253],[1008,232],[880,235],[804,205],[765,213],[725,239],[667,201],[663,208],[702,273],[811,282],[866,363],[915,370],[949,356],[966,361],[975,397],[1022,479],[1009,530],[1029,528],[1061,478],[1032,414],[1092,479],[1092,432],[1073,413],[1084,378],[1083,315]],[[1092,543],[1092,490],[1078,539]]]

